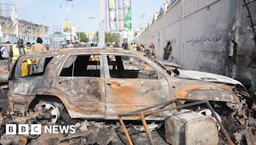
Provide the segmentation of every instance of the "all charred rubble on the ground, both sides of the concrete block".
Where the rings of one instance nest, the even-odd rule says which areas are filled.
[[[240,109],[232,111],[218,110],[217,104],[213,105],[214,111],[220,114],[221,123],[230,135],[235,144],[256,144],[256,116],[255,111],[243,104]],[[201,107],[195,109],[201,111]],[[44,111],[29,111],[22,113],[0,111],[0,143],[1,144],[129,144],[123,128],[116,120],[65,120],[58,121],[57,125],[74,125],[76,133],[74,134],[41,134],[31,135],[6,135],[5,125],[8,123],[40,123],[42,118],[47,116]],[[180,112],[182,113],[182,112]],[[45,115],[45,116],[44,116]],[[47,125],[47,124],[45,124]],[[157,144],[168,144],[166,141],[166,132],[164,121],[147,121],[150,134]],[[125,127],[131,135],[134,144],[150,144],[141,121],[125,121]],[[227,139],[221,131],[218,132],[218,144],[227,144]]]

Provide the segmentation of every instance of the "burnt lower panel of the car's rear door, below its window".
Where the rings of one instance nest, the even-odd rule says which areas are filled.
[[[73,112],[70,116],[74,112],[84,113],[84,116],[88,114],[90,117],[105,116],[104,80],[101,78],[58,77],[54,80],[52,93],[65,97],[68,102],[65,106]]]

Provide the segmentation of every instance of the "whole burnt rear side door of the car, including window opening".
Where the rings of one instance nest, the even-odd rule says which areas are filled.
[[[70,55],[54,80],[72,118],[104,118],[104,71],[99,53]],[[65,102],[64,102],[65,103]]]

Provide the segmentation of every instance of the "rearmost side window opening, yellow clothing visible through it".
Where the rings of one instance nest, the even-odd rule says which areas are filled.
[[[44,75],[45,68],[51,60],[52,57],[35,57],[23,60],[20,66],[20,76],[24,77]]]

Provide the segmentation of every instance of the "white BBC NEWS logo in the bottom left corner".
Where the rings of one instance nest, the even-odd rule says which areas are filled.
[[[31,124],[30,128],[28,124],[6,124],[6,134],[19,134],[19,135],[39,135],[42,134],[42,131],[47,134],[74,134],[76,132],[75,125],[49,125],[44,126],[44,130],[42,130],[41,124]],[[18,130],[17,130],[18,129]]]

